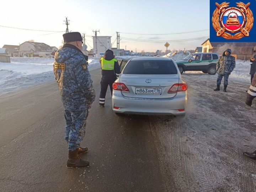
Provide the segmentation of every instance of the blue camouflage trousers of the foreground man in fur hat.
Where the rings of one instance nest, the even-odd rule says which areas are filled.
[[[68,142],[69,150],[75,150],[80,147],[80,143],[85,136],[85,126],[88,113],[88,109],[76,111],[65,110],[65,140]]]

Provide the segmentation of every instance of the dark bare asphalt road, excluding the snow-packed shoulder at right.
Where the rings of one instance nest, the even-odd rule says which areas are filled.
[[[0,97],[0,191],[162,191],[148,116],[118,117],[110,91],[98,106],[100,69],[83,146],[86,169],[68,169],[64,112],[56,82]]]

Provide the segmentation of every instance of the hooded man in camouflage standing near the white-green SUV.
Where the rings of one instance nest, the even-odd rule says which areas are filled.
[[[219,61],[216,64],[216,70],[218,73],[217,78],[217,88],[214,89],[215,91],[220,90],[220,84],[222,81],[222,78],[224,77],[224,92],[226,91],[226,88],[228,87],[228,78],[230,73],[235,68],[235,57],[231,56],[231,49],[226,49],[222,56],[220,56]]]

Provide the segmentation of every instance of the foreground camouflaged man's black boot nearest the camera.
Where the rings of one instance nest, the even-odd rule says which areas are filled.
[[[68,161],[66,164],[67,168],[84,168],[89,165],[88,161],[81,160],[78,157],[78,148],[74,151],[69,150]]]

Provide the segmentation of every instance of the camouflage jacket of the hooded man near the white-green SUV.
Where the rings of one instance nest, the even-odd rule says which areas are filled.
[[[216,64],[217,73],[220,75],[229,74],[235,68],[235,57],[229,56],[220,56],[219,61]]]

